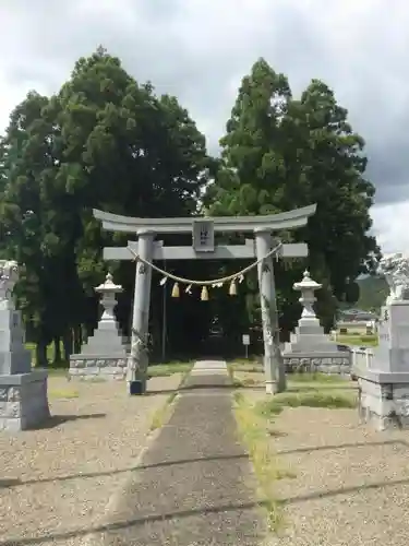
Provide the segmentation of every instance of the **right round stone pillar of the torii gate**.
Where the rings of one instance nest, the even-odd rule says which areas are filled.
[[[255,229],[254,235],[256,258],[260,260],[272,250],[274,241],[270,230]],[[286,389],[286,375],[279,349],[278,313],[272,257],[258,263],[257,273],[263,321],[266,393],[275,394]]]

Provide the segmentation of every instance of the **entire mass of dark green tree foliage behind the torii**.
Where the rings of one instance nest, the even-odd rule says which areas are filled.
[[[93,209],[190,216],[197,213],[204,188],[203,209],[214,215],[267,214],[317,203],[308,227],[277,235],[309,244],[309,268],[324,285],[318,311],[330,323],[336,298],[350,298],[354,280],[373,270],[378,253],[369,235],[374,188],[365,178],[364,142],[346,109],[317,80],[293,98],[287,78],[260,59],[242,81],[220,145],[220,157],[209,157],[205,138],[178,99],[156,95],[149,82],[139,83],[104,48],[81,58],[58,93],[33,91],[14,108],[0,140],[0,252],[22,266],[19,304],[40,364],[51,341],[59,349],[62,340],[67,354],[73,344],[80,349],[98,318],[93,288],[108,266],[124,287],[118,317],[124,333],[129,328],[134,265],[103,260],[105,246],[123,246],[129,235],[103,232]],[[224,240],[242,239],[236,234]],[[189,237],[164,240],[191,244]],[[292,284],[304,266],[297,261],[275,266],[285,330],[298,318]],[[238,264],[172,261],[167,268],[212,278]],[[228,340],[260,323],[255,273],[237,298],[222,290],[213,292],[208,304],[188,295],[180,302],[166,297],[177,353],[197,348],[214,317]],[[163,306],[154,275],[156,347]]]

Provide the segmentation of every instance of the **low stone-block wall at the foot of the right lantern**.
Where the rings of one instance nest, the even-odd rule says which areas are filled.
[[[334,354],[332,356],[284,355],[284,364],[286,371],[289,373],[320,371],[322,373],[349,375],[351,372],[351,357],[349,353],[341,354],[340,356]]]

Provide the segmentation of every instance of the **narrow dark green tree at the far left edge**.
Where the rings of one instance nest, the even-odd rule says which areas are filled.
[[[44,364],[46,346],[59,320],[52,314],[50,292],[56,283],[53,256],[59,240],[53,232],[53,206],[44,191],[53,179],[52,127],[41,117],[48,98],[31,92],[12,112],[1,143],[3,191],[2,251],[23,264],[19,299],[29,330],[39,341],[37,359]]]

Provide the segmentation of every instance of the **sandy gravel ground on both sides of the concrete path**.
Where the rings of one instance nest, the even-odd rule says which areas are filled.
[[[246,378],[246,397],[265,396],[260,373],[236,377]],[[86,545],[180,378],[152,379],[142,397],[122,382],[50,379],[48,428],[0,436],[0,546]],[[285,471],[274,485],[282,527],[268,546],[407,545],[409,431],[376,432],[357,410],[310,407],[284,410],[268,430]]]

